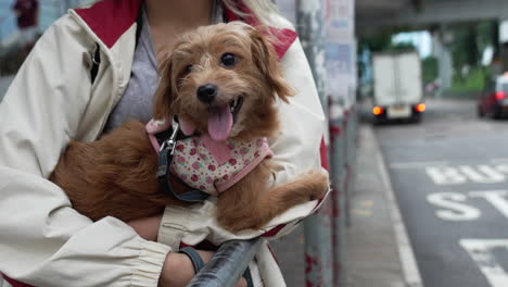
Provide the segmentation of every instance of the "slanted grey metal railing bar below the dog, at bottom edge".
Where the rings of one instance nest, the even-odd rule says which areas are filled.
[[[245,272],[262,244],[261,238],[223,244],[187,287],[232,287]]]

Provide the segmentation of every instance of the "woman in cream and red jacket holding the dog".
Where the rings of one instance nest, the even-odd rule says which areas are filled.
[[[276,180],[319,165],[325,118],[291,25],[269,0],[233,2],[104,0],[69,11],[45,33],[0,104],[0,272],[52,287],[185,286],[191,279],[191,261],[170,246],[199,237],[200,226],[176,234],[170,226],[178,216],[169,209],[129,224],[113,217],[93,223],[46,178],[71,139],[91,141],[127,118],[150,120],[155,55],[200,25],[241,17],[282,32],[277,50],[299,92],[280,108],[282,135],[271,142],[282,166]],[[278,223],[294,223],[315,205]],[[194,213],[207,216],[203,209]]]

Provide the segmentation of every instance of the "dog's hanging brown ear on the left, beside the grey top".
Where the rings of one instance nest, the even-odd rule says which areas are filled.
[[[153,99],[153,118],[169,120],[173,103],[173,58],[169,54],[163,57],[158,66],[161,83]]]

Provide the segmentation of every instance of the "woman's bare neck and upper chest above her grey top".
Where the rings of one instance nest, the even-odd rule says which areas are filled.
[[[155,53],[172,49],[177,37],[211,22],[214,0],[145,0]]]

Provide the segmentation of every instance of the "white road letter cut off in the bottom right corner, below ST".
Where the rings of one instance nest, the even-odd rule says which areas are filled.
[[[460,239],[459,245],[468,251],[492,287],[508,286],[508,274],[492,252],[494,248],[508,249],[507,239]]]

